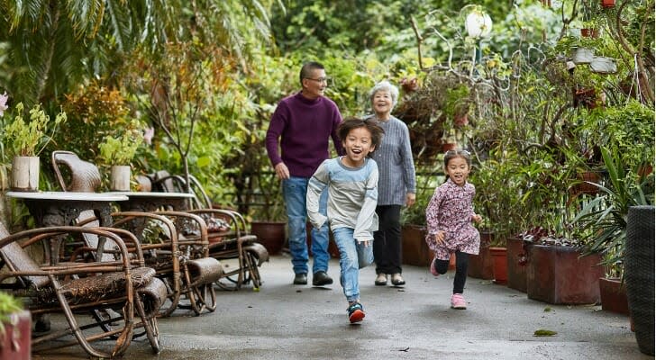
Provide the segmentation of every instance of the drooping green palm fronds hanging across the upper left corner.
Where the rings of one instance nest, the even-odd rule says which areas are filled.
[[[11,73],[0,79],[8,77],[3,87],[29,107],[57,100],[88,79],[114,77],[134,49],[158,58],[167,43],[192,39],[228,49],[247,67],[251,51],[271,43],[272,6],[282,2],[2,2],[0,41],[9,44]]]

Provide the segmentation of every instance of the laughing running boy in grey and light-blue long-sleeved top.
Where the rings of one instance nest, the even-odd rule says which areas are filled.
[[[383,130],[374,121],[351,118],[337,130],[346,155],[323,161],[307,186],[307,216],[315,229],[325,220],[340,249],[340,283],[351,323],[364,319],[360,303],[360,268],[373,262],[373,231],[378,229],[378,166],[369,158]],[[319,212],[319,197],[328,187],[328,217]]]

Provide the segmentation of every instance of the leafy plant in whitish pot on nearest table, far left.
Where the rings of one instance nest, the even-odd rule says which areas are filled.
[[[14,121],[5,126],[5,145],[14,156],[11,188],[14,191],[38,191],[39,154],[50,143],[59,123],[66,121],[66,112],[57,114],[50,135],[47,134],[50,116],[40,104],[30,110],[29,122],[23,119],[23,103],[17,103],[14,112]]]

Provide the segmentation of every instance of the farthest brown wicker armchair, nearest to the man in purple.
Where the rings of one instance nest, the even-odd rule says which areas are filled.
[[[184,176],[169,175],[159,171],[150,175],[153,191],[186,192]],[[222,279],[232,284],[217,281],[224,290],[239,290],[243,284],[253,283],[253,288],[262,285],[259,266],[269,261],[266,247],[257,242],[255,235],[249,234],[246,220],[237,211],[215,209],[203,186],[194,175],[189,175],[189,190],[195,197],[190,202],[190,213],[205,220],[209,231],[209,254],[218,260],[236,259],[238,266],[224,271]]]

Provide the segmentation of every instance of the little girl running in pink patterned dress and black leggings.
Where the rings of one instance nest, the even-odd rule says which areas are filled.
[[[437,276],[446,273],[451,253],[455,252],[456,255],[456,275],[451,295],[453,309],[467,309],[467,302],[462,297],[467,280],[467,261],[469,254],[478,254],[480,246],[478,229],[471,224],[471,221],[480,221],[481,217],[474,213],[472,206],[476,189],[467,182],[470,168],[468,151],[447,151],[444,154],[447,181],[435,189],[426,208],[426,242],[435,253],[431,262],[431,274]]]

